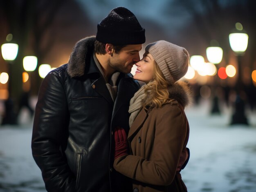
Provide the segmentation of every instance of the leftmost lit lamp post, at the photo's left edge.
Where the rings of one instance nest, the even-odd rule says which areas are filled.
[[[5,61],[7,61],[8,64],[8,73],[9,73],[9,83],[8,83],[8,91],[9,91],[9,97],[4,102],[4,108],[5,108],[5,116],[2,120],[2,124],[17,124],[17,116],[14,113],[14,104],[11,99],[11,82],[10,79],[13,78],[10,70],[10,66],[13,62],[13,60],[16,59],[18,54],[18,44],[15,43],[5,43],[1,46],[1,52],[2,57]]]

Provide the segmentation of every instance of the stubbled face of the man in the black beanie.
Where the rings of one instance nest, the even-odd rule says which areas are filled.
[[[139,61],[141,49],[141,44],[123,47],[118,53],[113,53],[110,58],[110,66],[121,73],[130,73],[132,66]]]

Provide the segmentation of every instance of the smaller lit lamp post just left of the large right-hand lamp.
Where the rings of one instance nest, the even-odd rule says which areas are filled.
[[[216,64],[219,64],[222,60],[223,56],[223,50],[219,46],[209,46],[206,49],[206,55],[209,62]],[[218,70],[218,67],[217,67]],[[217,76],[215,76],[217,77]],[[217,78],[215,78],[217,80]],[[216,93],[216,88],[213,88],[213,101],[212,101],[212,107],[211,107],[211,114],[220,114],[220,107],[219,107],[219,98]]]

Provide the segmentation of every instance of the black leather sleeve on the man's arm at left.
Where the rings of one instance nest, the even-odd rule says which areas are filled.
[[[74,176],[60,150],[68,119],[63,85],[56,75],[49,73],[38,93],[31,142],[32,155],[49,192],[75,191]]]

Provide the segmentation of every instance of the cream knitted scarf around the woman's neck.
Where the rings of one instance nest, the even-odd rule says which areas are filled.
[[[128,112],[130,113],[130,119],[129,119],[129,126],[131,127],[134,119],[137,117],[139,112],[142,109],[142,101],[146,97],[146,93],[144,90],[144,86],[141,86],[141,88],[134,94],[132,99],[130,100],[130,107]]]

